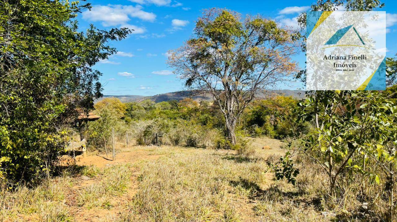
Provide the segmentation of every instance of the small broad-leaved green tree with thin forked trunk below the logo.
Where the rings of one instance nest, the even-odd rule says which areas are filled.
[[[317,118],[319,127],[303,152],[327,173],[330,195],[344,173],[364,173],[379,182],[378,175],[368,175],[366,154],[389,140],[387,129],[397,114],[393,100],[376,91],[322,91],[300,106],[306,120]]]

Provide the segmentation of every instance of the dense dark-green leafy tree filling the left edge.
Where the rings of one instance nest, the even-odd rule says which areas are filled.
[[[116,52],[127,28],[78,31],[89,4],[66,0],[0,2],[0,177],[9,182],[47,174],[64,150],[75,109],[101,96],[92,66]]]

